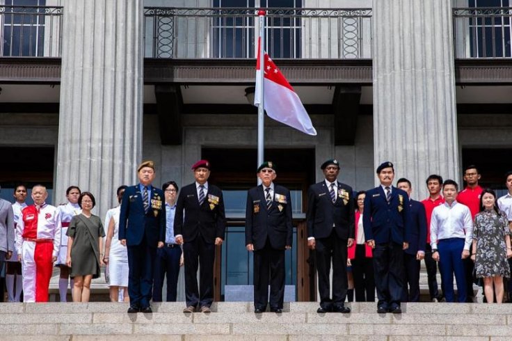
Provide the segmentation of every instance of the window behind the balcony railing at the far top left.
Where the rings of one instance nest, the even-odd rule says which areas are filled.
[[[2,56],[43,55],[45,9],[22,6],[45,6],[45,4],[46,0],[6,0],[1,34]]]

